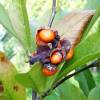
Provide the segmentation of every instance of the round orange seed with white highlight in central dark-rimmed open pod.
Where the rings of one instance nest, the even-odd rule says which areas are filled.
[[[58,49],[55,49],[50,56],[50,61],[52,64],[59,64],[61,63],[63,60],[63,55],[61,53],[61,51],[59,51]]]

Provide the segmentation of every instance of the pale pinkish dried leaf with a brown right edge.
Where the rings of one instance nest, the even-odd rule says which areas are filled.
[[[71,12],[53,27],[62,37],[66,37],[75,46],[81,40],[83,31],[94,15],[93,10]]]

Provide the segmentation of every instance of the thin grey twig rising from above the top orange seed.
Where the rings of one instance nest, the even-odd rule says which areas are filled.
[[[48,27],[50,27],[50,28],[52,26],[52,23],[53,23],[55,15],[56,15],[56,0],[53,0],[53,3],[52,3],[52,14],[51,14],[51,17],[50,17],[49,23],[48,23]]]

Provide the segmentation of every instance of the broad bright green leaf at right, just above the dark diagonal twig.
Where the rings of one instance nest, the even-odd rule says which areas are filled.
[[[71,61],[66,62],[57,79],[65,76],[75,68],[85,65],[87,62],[100,57],[100,34],[95,33],[81,42],[74,51]]]

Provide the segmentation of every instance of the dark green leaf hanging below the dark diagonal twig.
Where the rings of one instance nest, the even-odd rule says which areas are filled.
[[[80,88],[83,90],[86,96],[89,94],[90,90],[96,86],[93,76],[89,69],[76,75],[75,79],[79,82]]]

